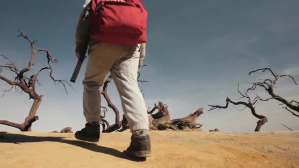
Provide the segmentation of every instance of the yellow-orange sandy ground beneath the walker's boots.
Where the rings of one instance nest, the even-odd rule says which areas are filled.
[[[129,132],[97,144],[73,134],[0,132],[0,168],[299,168],[299,131],[224,133],[150,131],[153,156],[122,151]]]

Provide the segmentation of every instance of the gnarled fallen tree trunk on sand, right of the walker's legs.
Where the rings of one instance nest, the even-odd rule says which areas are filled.
[[[152,114],[155,110],[158,110],[155,114]],[[148,110],[149,115],[149,129],[150,130],[165,130],[172,129],[175,131],[197,129],[202,127],[202,124],[197,123],[198,117],[203,114],[203,108],[198,109],[196,112],[189,114],[186,117],[178,119],[170,119],[168,106],[159,102],[154,105],[152,110]]]

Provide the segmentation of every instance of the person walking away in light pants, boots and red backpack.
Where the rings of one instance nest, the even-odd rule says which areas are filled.
[[[86,0],[76,28],[75,54],[89,57],[83,80],[85,128],[75,138],[98,142],[100,138],[99,88],[110,72],[128,120],[131,143],[124,153],[151,156],[149,119],[138,87],[137,71],[146,52],[148,13],[141,0]]]

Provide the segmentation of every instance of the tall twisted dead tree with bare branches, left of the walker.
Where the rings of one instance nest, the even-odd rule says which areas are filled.
[[[36,113],[37,113],[38,107],[39,107],[39,105],[42,101],[42,97],[43,97],[43,95],[36,93],[36,89],[35,89],[36,84],[39,84],[39,81],[37,79],[38,75],[44,70],[49,70],[50,79],[54,83],[61,84],[64,87],[64,90],[66,93],[67,93],[66,86],[67,85],[71,86],[71,84],[69,84],[65,80],[57,80],[53,77],[53,67],[51,64],[57,63],[58,60],[54,59],[48,50],[46,50],[46,49],[36,49],[35,50],[34,45],[36,44],[37,41],[36,40],[32,41],[25,33],[21,32],[21,31],[19,31],[19,33],[20,34],[18,35],[18,37],[22,37],[30,43],[31,55],[30,55],[29,63],[28,63],[27,67],[25,67],[23,69],[18,69],[17,65],[14,62],[12,62],[8,57],[3,56],[3,55],[0,56],[0,58],[4,59],[6,61],[6,64],[0,65],[0,80],[11,85],[10,89],[4,90],[4,93],[2,96],[4,96],[6,94],[6,92],[9,92],[13,88],[15,88],[15,90],[20,93],[22,91],[27,93],[29,95],[29,99],[33,99],[33,104],[31,106],[30,112],[29,112],[28,116],[26,117],[24,123],[19,124],[19,123],[6,121],[6,120],[0,120],[0,124],[15,127],[15,128],[20,129],[21,131],[31,131],[32,123],[34,121],[38,120],[38,116],[36,116]],[[46,54],[48,65],[41,68],[35,74],[30,75],[30,77],[28,78],[28,74],[31,72],[30,70],[32,69],[32,66],[34,65],[34,63],[33,63],[34,56],[37,53],[41,53],[41,52]],[[1,62],[3,62],[3,61],[1,61]],[[1,75],[1,72],[4,70],[8,70],[15,75],[13,80]],[[19,91],[19,89],[21,89],[21,90]]]

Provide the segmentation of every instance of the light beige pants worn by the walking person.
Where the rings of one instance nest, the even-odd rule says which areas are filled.
[[[111,73],[120,94],[122,110],[130,131],[149,130],[149,119],[143,95],[138,87],[137,71],[140,45],[128,46],[92,41],[83,81],[83,108],[87,122],[100,120],[101,96],[99,88]]]

